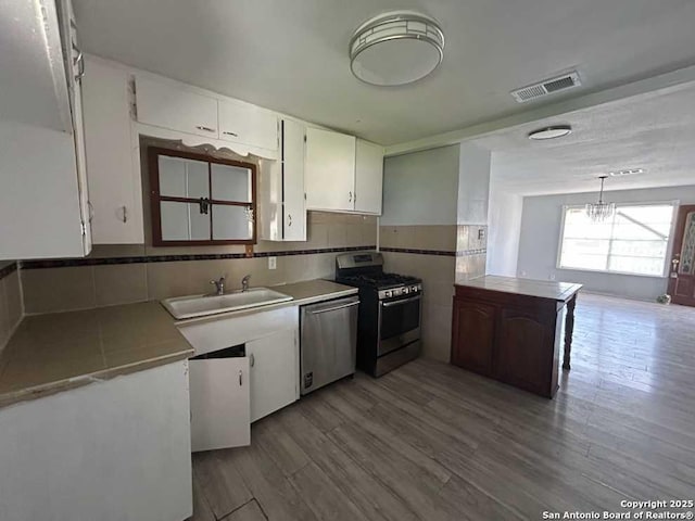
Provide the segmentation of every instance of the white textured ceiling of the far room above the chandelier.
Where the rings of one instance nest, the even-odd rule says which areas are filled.
[[[504,129],[473,142],[491,150],[492,179],[523,195],[695,185],[695,82]],[[531,141],[528,134],[570,124],[572,134]]]

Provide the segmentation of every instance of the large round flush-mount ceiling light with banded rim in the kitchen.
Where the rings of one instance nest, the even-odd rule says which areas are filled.
[[[434,18],[413,11],[380,14],[350,40],[350,67],[371,85],[410,84],[429,75],[444,58],[444,33]]]

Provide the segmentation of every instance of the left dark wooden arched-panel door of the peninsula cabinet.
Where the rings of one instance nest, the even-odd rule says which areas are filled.
[[[495,307],[475,302],[454,302],[452,364],[490,376],[495,334]]]

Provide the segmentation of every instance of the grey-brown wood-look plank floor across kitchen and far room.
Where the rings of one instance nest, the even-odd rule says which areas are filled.
[[[195,521],[506,520],[695,499],[695,309],[580,294],[553,401],[419,359],[197,454]]]

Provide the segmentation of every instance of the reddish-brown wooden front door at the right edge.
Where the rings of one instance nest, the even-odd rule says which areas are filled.
[[[678,211],[669,294],[674,304],[695,306],[695,205]]]

